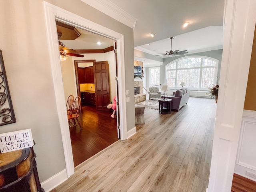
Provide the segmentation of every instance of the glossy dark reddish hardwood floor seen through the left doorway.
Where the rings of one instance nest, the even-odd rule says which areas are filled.
[[[98,111],[94,105],[83,105],[78,120],[82,125],[70,128],[74,166],[78,166],[118,140],[116,118],[110,111]]]

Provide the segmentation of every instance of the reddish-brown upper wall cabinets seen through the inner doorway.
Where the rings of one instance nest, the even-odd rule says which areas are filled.
[[[94,84],[93,66],[84,68],[78,67],[78,79],[80,84]]]

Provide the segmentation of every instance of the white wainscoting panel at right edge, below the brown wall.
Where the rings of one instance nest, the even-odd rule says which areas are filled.
[[[256,111],[244,110],[234,172],[256,181]]]

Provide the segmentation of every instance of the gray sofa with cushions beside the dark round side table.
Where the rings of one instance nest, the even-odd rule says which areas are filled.
[[[182,108],[184,105],[187,104],[189,95],[190,95],[190,92],[188,92],[187,88],[177,90],[175,92],[174,96],[168,95],[167,98],[172,99],[171,109],[174,109],[178,112],[180,110],[180,108]]]

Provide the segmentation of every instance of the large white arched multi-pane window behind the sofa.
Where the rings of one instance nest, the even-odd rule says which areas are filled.
[[[176,89],[184,82],[190,90],[206,90],[216,83],[217,67],[218,60],[214,58],[179,58],[166,65],[166,84],[170,89]]]

